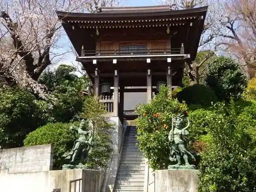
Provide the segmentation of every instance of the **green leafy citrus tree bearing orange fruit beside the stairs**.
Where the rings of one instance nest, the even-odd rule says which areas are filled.
[[[187,107],[177,99],[168,97],[168,88],[161,91],[149,104],[136,106],[137,139],[139,150],[153,169],[165,169],[170,164],[168,133],[172,129],[172,116],[184,112]]]

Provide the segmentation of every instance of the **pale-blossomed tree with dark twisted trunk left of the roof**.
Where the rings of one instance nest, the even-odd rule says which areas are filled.
[[[0,0],[0,74],[39,92],[40,74],[70,52],[61,42],[63,30],[55,11],[93,13],[97,6],[118,6],[124,2]]]

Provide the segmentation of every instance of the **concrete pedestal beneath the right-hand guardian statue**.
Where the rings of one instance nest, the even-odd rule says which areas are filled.
[[[156,170],[156,192],[197,192],[198,170]]]

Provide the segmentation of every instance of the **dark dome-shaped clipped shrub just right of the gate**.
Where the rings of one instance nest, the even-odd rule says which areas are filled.
[[[185,87],[177,94],[180,102],[184,101],[186,104],[197,104],[202,106],[209,106],[211,102],[216,102],[217,97],[215,92],[203,84],[194,84],[193,86]]]

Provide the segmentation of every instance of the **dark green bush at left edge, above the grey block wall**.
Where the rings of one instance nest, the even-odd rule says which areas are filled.
[[[2,89],[0,92],[0,146],[23,146],[26,135],[45,124],[35,97],[19,88]]]

